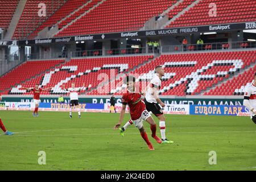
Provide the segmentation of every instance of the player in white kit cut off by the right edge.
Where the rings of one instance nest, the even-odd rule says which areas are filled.
[[[251,119],[256,124],[256,73],[251,85],[245,89],[243,105],[250,110]]]

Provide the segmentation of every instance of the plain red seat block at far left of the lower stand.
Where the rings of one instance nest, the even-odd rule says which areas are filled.
[[[10,89],[11,86],[40,75],[63,62],[64,60],[26,61],[0,77],[0,90]]]

